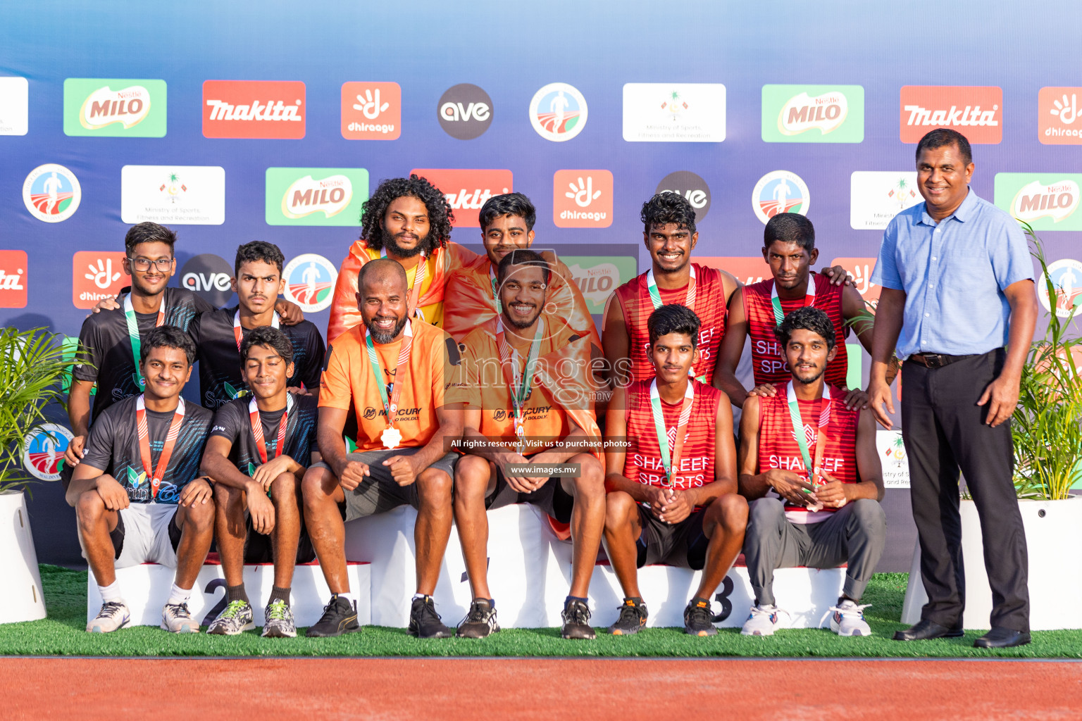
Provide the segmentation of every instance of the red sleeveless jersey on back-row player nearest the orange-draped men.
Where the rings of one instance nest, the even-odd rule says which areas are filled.
[[[725,335],[725,319],[728,309],[725,307],[725,285],[722,273],[714,268],[691,264],[695,267],[695,302],[691,310],[699,317],[699,362],[691,369],[696,377],[710,380],[714,376],[714,364],[717,362],[717,349]],[[646,276],[637,276],[616,289],[616,297],[623,311],[623,324],[628,329],[630,339],[631,379],[649,380],[654,377],[654,365],[650,363],[647,348],[650,345],[650,332],[646,321],[654,312],[654,303],[646,286]],[[667,291],[658,289],[661,303],[669,305],[678,303],[686,305],[687,288]],[[649,399],[647,398],[647,405]]]

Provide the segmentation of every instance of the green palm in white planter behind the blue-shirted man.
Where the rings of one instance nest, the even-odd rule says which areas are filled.
[[[1033,257],[1041,266],[1038,292],[1050,298],[1052,312],[1044,337],[1032,344],[1019,384],[1018,405],[1011,418],[1014,442],[1014,482],[1029,549],[1030,627],[1033,630],[1082,628],[1082,616],[1067,599],[1082,598],[1082,559],[1074,553],[1050,552],[1082,545],[1082,499],[1070,494],[1082,480],[1082,339],[1070,337],[1078,307],[1057,312],[1057,288],[1048,273],[1044,248],[1033,228],[1021,223]],[[962,557],[965,566],[966,628],[988,628],[991,589],[985,572],[980,522],[973,500],[960,504]],[[920,619],[926,601],[920,583],[920,555],[914,551],[903,623]]]

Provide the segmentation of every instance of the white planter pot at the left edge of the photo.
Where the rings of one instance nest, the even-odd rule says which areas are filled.
[[[0,586],[4,589],[0,624],[45,617],[38,555],[22,491],[0,493]]]

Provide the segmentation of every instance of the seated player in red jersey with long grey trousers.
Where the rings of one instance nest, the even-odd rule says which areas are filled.
[[[824,311],[799,308],[776,333],[790,382],[776,396],[748,397],[740,418],[740,493],[751,503],[744,559],[755,591],[740,632],[770,636],[780,626],[775,569],[847,563],[830,628],[869,636],[860,596],[886,543],[875,420],[870,410],[846,408],[845,391],[826,382],[837,346]]]

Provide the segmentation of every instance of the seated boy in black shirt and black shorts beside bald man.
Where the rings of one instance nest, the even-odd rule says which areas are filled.
[[[240,344],[240,358],[252,395],[217,410],[202,458],[202,471],[214,483],[214,525],[228,601],[207,632],[236,636],[254,628],[245,591],[245,562],[273,560],[274,586],[263,612],[263,636],[293,638],[296,627],[289,602],[293,566],[312,558],[307,553],[299,559],[298,548],[301,478],[319,455],[316,399],[289,392],[293,346],[278,329],[253,329]],[[258,540],[267,536],[269,553]]]

